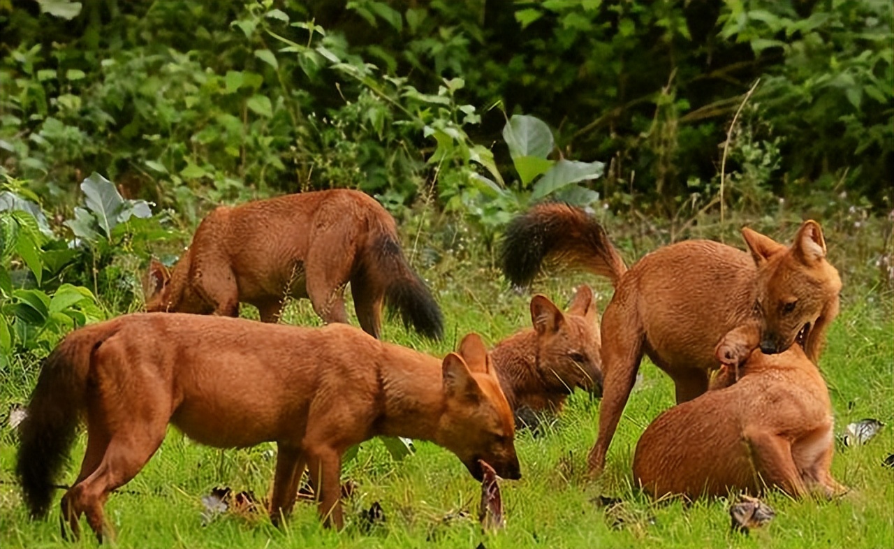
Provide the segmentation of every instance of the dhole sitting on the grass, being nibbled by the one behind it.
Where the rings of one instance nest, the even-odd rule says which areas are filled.
[[[633,474],[656,497],[757,494],[778,486],[794,497],[846,491],[829,471],[835,442],[829,391],[800,345],[766,355],[738,340],[718,345],[720,385],[666,410],[637,443]],[[744,365],[739,363],[744,362]]]

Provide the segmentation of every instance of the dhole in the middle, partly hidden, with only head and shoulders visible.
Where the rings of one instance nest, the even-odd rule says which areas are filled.
[[[566,314],[546,296],[534,296],[531,322],[533,328],[510,335],[491,350],[493,369],[512,410],[558,412],[576,387],[601,393],[593,290],[581,285]]]

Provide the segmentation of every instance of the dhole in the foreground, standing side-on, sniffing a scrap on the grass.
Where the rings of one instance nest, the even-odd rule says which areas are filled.
[[[341,528],[342,453],[376,435],[434,441],[479,480],[479,460],[520,477],[509,404],[476,334],[442,364],[341,324],[142,313],[80,328],[46,360],[21,423],[16,471],[35,517],[81,416],[87,452],[62,514],[77,536],[86,513],[100,540],[108,494],[146,465],[168,423],[221,448],[277,443],[274,523],[307,467],[320,514]]]

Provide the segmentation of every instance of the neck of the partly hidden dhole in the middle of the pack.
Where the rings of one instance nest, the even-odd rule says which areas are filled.
[[[543,396],[550,387],[540,375],[537,364],[537,334],[534,328],[522,330],[499,342],[491,351],[493,368],[510,408],[517,410],[528,397]]]

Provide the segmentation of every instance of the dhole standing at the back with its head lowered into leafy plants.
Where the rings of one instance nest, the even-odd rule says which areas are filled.
[[[443,317],[426,284],[407,265],[393,217],[358,190],[318,190],[218,207],[198,225],[172,273],[153,260],[149,312],[239,315],[239,303],[276,322],[283,297],[310,298],[326,323],[348,322],[350,282],[360,326],[378,338],[382,302],[433,338]]]

